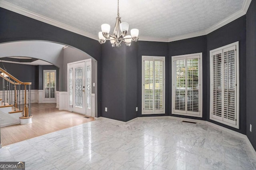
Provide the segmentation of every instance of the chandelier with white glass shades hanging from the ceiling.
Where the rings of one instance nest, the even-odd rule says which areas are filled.
[[[121,42],[124,42],[127,46],[131,45],[132,41],[138,41],[139,39],[139,30],[132,29],[131,35],[127,35],[129,28],[129,24],[127,22],[121,22],[121,17],[119,16],[119,0],[117,1],[117,17],[116,17],[116,24],[114,28],[113,35],[109,34],[110,32],[110,25],[109,24],[102,24],[101,25],[101,32],[99,32],[99,42],[101,44],[105,43],[106,40],[110,40],[112,47],[120,47]]]

